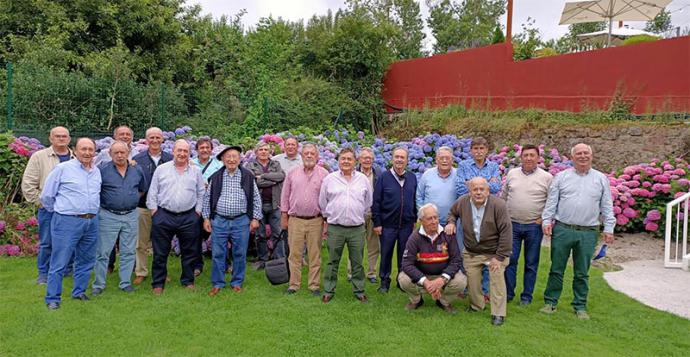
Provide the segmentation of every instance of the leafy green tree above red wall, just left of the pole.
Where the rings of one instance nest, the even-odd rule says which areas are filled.
[[[505,0],[427,0],[427,23],[436,38],[434,53],[481,47],[492,43]]]

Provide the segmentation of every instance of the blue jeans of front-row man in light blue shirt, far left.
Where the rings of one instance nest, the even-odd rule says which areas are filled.
[[[55,213],[50,222],[50,235],[53,251],[50,255],[46,304],[60,302],[62,277],[72,254],[75,254],[72,296],[86,292],[91,270],[96,263],[98,216],[87,219]]]

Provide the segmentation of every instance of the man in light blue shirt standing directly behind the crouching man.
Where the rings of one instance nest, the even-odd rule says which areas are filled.
[[[455,191],[456,179],[457,170],[453,167],[453,149],[442,146],[436,151],[436,167],[425,171],[417,183],[417,207],[433,203],[438,208],[442,226],[446,225],[450,206],[458,199]]]

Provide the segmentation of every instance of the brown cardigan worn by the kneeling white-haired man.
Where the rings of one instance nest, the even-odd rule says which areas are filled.
[[[470,195],[460,197],[448,212],[448,221],[455,222],[458,218],[462,222],[462,229],[465,235],[465,249],[470,254],[486,254],[503,261],[510,257],[513,251],[513,225],[510,222],[510,215],[505,202],[496,197],[489,196],[489,200],[484,208],[484,218],[480,229],[480,239],[474,235],[472,225],[472,203]]]

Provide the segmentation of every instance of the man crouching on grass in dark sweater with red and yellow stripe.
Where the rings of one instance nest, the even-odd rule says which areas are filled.
[[[451,302],[467,286],[467,277],[460,271],[458,242],[439,225],[438,209],[433,203],[420,207],[418,217],[422,226],[407,240],[398,275],[400,287],[410,296],[405,309],[422,306],[422,293],[428,292],[443,311],[456,313]]]

